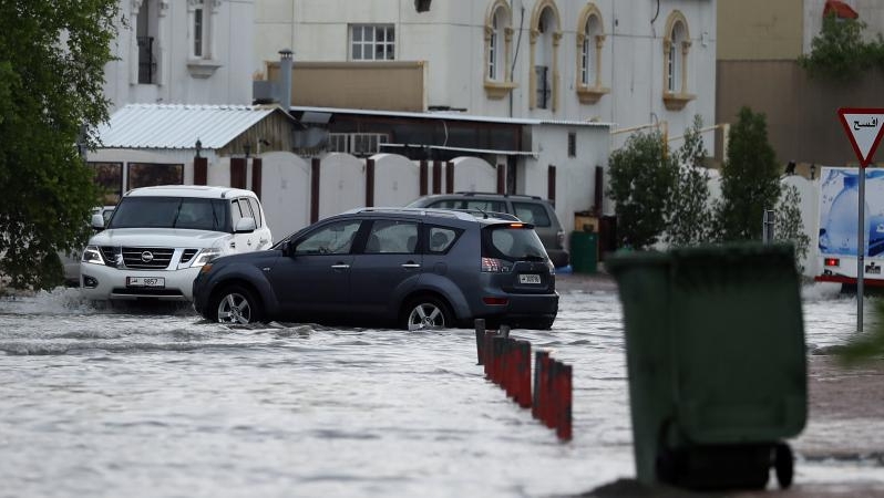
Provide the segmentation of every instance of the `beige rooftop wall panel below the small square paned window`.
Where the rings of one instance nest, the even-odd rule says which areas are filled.
[[[267,65],[267,79],[279,81],[279,63]],[[426,111],[423,62],[296,62],[291,105]]]

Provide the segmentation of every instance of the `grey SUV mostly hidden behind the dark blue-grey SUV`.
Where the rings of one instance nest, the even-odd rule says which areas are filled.
[[[408,207],[479,209],[515,215],[522,221],[534,226],[534,231],[541,237],[546,253],[556,268],[566,267],[571,260],[565,249],[565,230],[558,222],[553,205],[537,196],[459,191],[423,196],[413,200]]]

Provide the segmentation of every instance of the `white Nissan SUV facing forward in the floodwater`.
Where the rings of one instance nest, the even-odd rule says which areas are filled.
[[[273,245],[255,193],[228,187],[136,188],[92,226],[104,230],[83,249],[80,287],[94,300],[191,301],[201,267]]]

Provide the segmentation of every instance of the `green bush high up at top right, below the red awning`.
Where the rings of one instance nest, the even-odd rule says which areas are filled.
[[[820,34],[811,40],[811,52],[798,58],[798,63],[811,77],[845,82],[867,71],[882,58],[882,42],[863,40],[865,23],[854,19],[823,18]]]

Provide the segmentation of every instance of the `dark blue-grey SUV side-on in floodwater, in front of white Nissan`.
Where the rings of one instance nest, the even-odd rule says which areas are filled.
[[[555,269],[533,226],[508,215],[361,208],[269,250],[218,258],[194,281],[210,321],[383,324],[409,330],[549,329]]]

